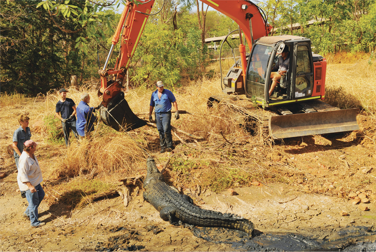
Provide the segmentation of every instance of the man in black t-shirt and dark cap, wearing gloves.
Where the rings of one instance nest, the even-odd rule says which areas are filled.
[[[78,133],[76,129],[76,104],[70,98],[67,98],[67,90],[62,88],[59,90],[60,100],[56,104],[56,117],[61,120],[63,127],[65,145],[70,144],[69,141],[69,129],[72,129],[74,136],[78,139]],[[60,114],[59,114],[60,113]]]

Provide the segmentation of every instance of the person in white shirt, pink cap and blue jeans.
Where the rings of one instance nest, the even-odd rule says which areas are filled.
[[[29,202],[23,216],[30,218],[32,227],[41,227],[46,224],[38,219],[38,207],[45,197],[45,192],[41,186],[42,170],[34,154],[37,145],[38,143],[33,140],[24,143],[24,151],[20,156],[20,171],[17,175],[18,186],[21,191],[25,191],[26,199]]]

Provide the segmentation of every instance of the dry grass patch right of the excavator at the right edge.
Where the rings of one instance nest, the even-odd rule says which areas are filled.
[[[376,65],[367,60],[355,64],[328,64],[325,102],[341,108],[359,107],[376,113],[376,86],[373,75]]]

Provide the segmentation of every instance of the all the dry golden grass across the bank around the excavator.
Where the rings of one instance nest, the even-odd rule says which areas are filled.
[[[295,165],[293,159],[288,160],[290,157],[286,150],[271,155],[276,149],[284,147],[268,146],[263,143],[262,136],[251,136],[246,130],[239,127],[238,122],[230,118],[226,108],[208,110],[208,97],[222,93],[218,78],[218,64],[211,66],[211,70],[214,77],[204,77],[199,81],[185,81],[181,83],[181,88],[173,91],[179,110],[185,110],[191,114],[181,114],[179,120],[172,119],[172,126],[201,136],[204,140],[195,141],[179,133],[177,133],[178,138],[173,135],[173,140],[178,144],[174,156],[171,157],[169,167],[176,172],[171,172],[170,176],[173,177],[170,177],[169,181],[183,183],[187,186],[200,184],[212,187],[217,191],[236,183],[248,185],[252,180],[258,180],[264,184],[273,181],[296,184],[295,180],[303,177],[310,179],[307,184],[311,192],[320,192],[324,183],[334,183],[337,180],[338,183],[343,182],[348,185],[346,191],[364,186],[363,178],[356,180],[352,178],[349,181],[348,176],[342,176],[342,173],[346,174],[344,170],[341,170],[342,167],[335,168],[338,170],[337,174],[330,171],[323,178],[311,174],[311,169],[306,169],[305,166]],[[329,91],[326,98],[332,99],[333,103],[345,101],[344,104],[338,103],[338,106],[361,106],[374,113],[376,108],[374,85],[373,87],[368,85],[371,91],[363,88],[366,86],[365,84],[370,83],[372,70],[374,72],[374,67],[369,66],[365,61],[352,65],[329,64],[326,82]],[[69,88],[68,91],[67,97],[73,99],[77,105],[83,92],[90,94],[91,106],[96,106],[100,102],[97,97],[96,85],[88,85],[78,90]],[[147,114],[142,114],[149,111],[151,92],[152,90],[133,89],[126,93],[125,98],[130,108],[134,113],[141,114],[140,118],[147,119],[148,117]],[[351,99],[349,99],[349,94],[351,94]],[[31,125],[47,116],[53,116],[56,102],[59,99],[58,92],[54,90],[37,99],[27,98],[25,101],[19,102],[18,105],[13,107],[10,105],[7,109],[2,109],[2,131],[5,130],[8,135],[13,134],[18,124],[17,119],[14,119],[14,122],[12,120],[15,118],[16,112],[29,111]],[[4,118],[7,119],[4,120]],[[76,141],[72,139],[72,144],[68,148],[64,144],[48,144],[45,141],[47,132],[41,132],[40,135],[35,134],[32,128],[32,134],[33,138],[36,137],[37,141],[42,142],[41,147],[46,152],[58,152],[51,154],[54,158],[49,158],[50,154],[44,154],[43,157],[48,161],[41,158],[41,163],[49,169],[46,172],[46,177],[50,178],[50,181],[54,177],[51,174],[55,174],[58,178],[79,176],[91,179],[95,177],[104,181],[116,182],[119,178],[145,173],[145,157],[147,155],[154,156],[158,164],[163,164],[169,157],[168,154],[159,155],[157,130],[148,126],[125,133],[116,132],[99,122],[90,140]],[[291,146],[304,151],[304,146],[302,147],[301,144],[296,144],[295,147]],[[313,143],[309,145],[314,146]],[[308,156],[310,152],[307,150],[305,154]],[[312,153],[312,155],[315,154]],[[48,178],[46,181],[49,180]],[[373,178],[370,181],[375,182]],[[297,186],[302,187],[302,185]],[[334,188],[330,193],[336,193],[336,190],[339,188]]]

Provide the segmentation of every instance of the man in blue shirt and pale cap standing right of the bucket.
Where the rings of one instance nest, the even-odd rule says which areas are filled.
[[[151,113],[155,107],[155,122],[159,131],[160,153],[172,151],[172,135],[171,135],[171,103],[175,109],[175,119],[179,119],[179,111],[177,110],[177,102],[175,96],[168,89],[164,89],[163,83],[156,83],[155,92],[151,94],[149,120],[151,122]]]

